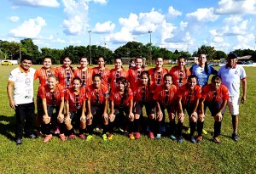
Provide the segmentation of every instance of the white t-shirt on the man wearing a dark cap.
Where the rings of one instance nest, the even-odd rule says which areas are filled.
[[[221,76],[222,84],[229,89],[229,95],[239,97],[240,81],[246,78],[246,72],[241,65],[236,65],[234,68],[221,66],[218,70],[218,75]]]

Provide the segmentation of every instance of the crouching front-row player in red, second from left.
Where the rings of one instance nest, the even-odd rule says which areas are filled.
[[[85,88],[82,87],[82,80],[74,77],[72,87],[68,88],[65,94],[65,125],[69,139],[76,138],[75,129],[79,130],[79,138],[84,139],[86,127],[85,121]]]

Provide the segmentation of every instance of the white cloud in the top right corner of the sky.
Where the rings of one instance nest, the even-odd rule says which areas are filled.
[[[216,14],[256,14],[256,0],[221,0]]]

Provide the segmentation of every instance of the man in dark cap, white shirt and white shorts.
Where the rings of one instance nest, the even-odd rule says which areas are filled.
[[[240,81],[242,85],[241,104],[246,101],[247,96],[247,80],[246,72],[241,65],[236,65],[236,53],[229,53],[227,64],[220,67],[218,75],[222,78],[222,84],[228,87],[230,99],[228,102],[230,114],[232,115],[233,134],[232,138],[238,141],[237,126],[239,115],[239,96],[240,96]]]

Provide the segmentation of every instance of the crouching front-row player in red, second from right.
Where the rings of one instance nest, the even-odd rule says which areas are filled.
[[[191,143],[195,143],[194,133],[198,117],[196,110],[201,98],[201,87],[196,85],[197,82],[197,77],[191,75],[188,78],[187,84],[180,87],[177,92],[177,115],[180,121],[177,123],[177,137],[182,137],[184,110],[186,109],[189,115]]]

